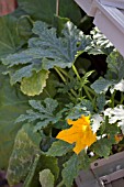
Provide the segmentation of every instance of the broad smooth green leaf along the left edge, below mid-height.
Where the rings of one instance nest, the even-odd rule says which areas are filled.
[[[9,77],[2,75],[0,65],[0,168],[7,168],[14,138],[21,123],[15,119],[29,108],[27,98],[21,95],[19,88],[11,87]]]

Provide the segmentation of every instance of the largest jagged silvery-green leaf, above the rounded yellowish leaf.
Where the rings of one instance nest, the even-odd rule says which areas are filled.
[[[49,25],[41,21],[35,22],[33,33],[38,36],[29,41],[27,50],[2,59],[8,68],[12,68],[10,76],[13,84],[21,81],[22,72],[24,72],[22,70],[20,74],[19,69],[13,69],[13,67],[16,68],[15,65],[21,64],[24,68],[24,66],[40,63],[42,64],[40,68],[43,69],[50,69],[55,66],[71,67],[77,53],[87,51],[91,42],[90,37],[86,36],[71,22],[65,24],[63,37],[57,37],[56,29],[49,29]],[[32,70],[30,68],[30,72]],[[31,73],[25,76],[31,76]]]

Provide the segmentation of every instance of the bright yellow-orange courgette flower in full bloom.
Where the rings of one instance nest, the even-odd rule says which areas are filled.
[[[76,121],[68,119],[67,123],[72,127],[60,131],[56,138],[70,144],[76,143],[74,147],[76,154],[97,141],[97,134],[91,130],[89,117],[81,116]]]

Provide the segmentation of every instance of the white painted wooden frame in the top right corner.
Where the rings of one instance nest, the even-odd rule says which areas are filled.
[[[75,0],[124,56],[124,0]]]

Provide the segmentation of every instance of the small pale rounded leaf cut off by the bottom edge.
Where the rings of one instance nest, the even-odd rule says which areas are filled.
[[[54,187],[54,175],[49,169],[40,172],[40,183],[42,187]]]

